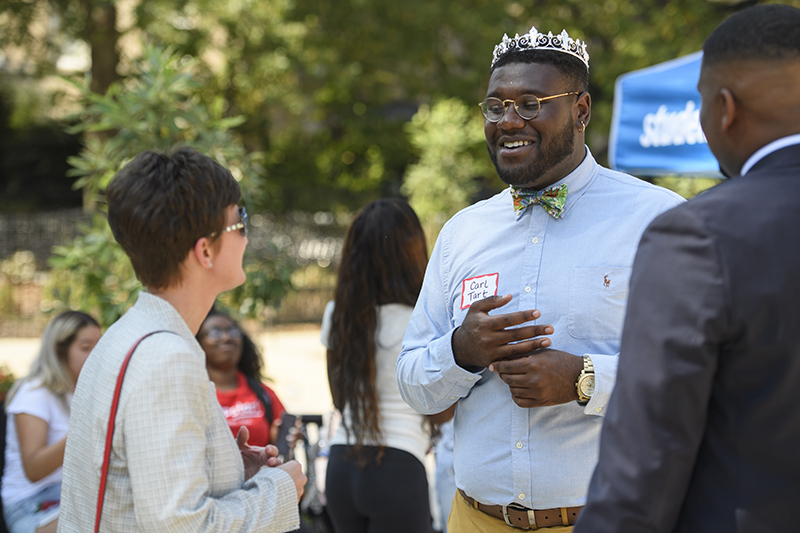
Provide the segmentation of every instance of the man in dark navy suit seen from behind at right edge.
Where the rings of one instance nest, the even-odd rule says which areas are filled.
[[[575,533],[800,531],[800,10],[741,11],[703,50],[735,178],[642,237]]]

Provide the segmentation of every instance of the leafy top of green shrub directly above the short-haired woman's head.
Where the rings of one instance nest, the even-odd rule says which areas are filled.
[[[112,84],[106,94],[71,81],[87,106],[68,121],[69,133],[105,133],[87,136],[77,157],[68,159],[68,176],[78,177],[74,187],[89,191],[95,200],[114,174],[143,150],[169,151],[190,145],[230,169],[237,180],[257,186],[263,168],[261,154],[248,153],[232,128],[243,116],[225,116],[225,100],[202,97],[205,80],[198,62],[181,57],[171,48],[146,47],[134,62],[134,73]]]

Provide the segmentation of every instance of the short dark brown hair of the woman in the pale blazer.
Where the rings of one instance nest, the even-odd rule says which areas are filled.
[[[108,223],[139,281],[171,287],[197,239],[222,230],[241,194],[227,169],[191,148],[141,152],[108,186]]]

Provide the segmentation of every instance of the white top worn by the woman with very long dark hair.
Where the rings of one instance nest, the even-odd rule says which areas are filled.
[[[331,331],[334,302],[328,302],[325,314],[322,317],[322,344],[328,347]],[[387,304],[377,308],[378,322],[375,330],[375,359],[377,369],[375,374],[375,387],[378,390],[378,409],[380,411],[380,429],[384,446],[397,448],[412,454],[424,464],[425,453],[428,451],[428,433],[423,427],[424,416],[417,413],[400,397],[395,377],[395,365],[403,335],[406,333],[408,322],[411,320],[413,308],[403,304]],[[345,424],[351,427],[350,409],[345,407],[342,413],[342,424],[336,431],[331,444],[355,444],[356,437],[350,432],[349,438],[345,431]],[[369,440],[368,445],[379,443]]]

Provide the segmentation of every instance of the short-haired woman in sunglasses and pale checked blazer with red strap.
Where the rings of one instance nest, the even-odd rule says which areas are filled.
[[[274,447],[248,447],[246,431],[234,439],[195,339],[217,295],[245,280],[240,197],[228,170],[188,148],[143,152],[109,184],[109,225],[147,290],[98,343],[75,391],[61,533],[94,528],[113,391],[140,340],[119,396],[100,530],[299,524],[300,465],[279,465]]]

